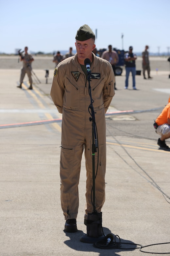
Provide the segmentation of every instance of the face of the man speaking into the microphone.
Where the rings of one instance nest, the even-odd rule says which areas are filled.
[[[92,38],[85,41],[76,40],[75,45],[76,45],[78,61],[83,62],[84,64],[84,60],[86,58],[90,59],[92,57],[92,51],[95,48],[94,40]]]

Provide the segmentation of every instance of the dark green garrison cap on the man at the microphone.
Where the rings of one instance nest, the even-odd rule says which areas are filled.
[[[95,34],[93,33],[93,31],[91,30],[91,28],[88,25],[84,24],[77,30],[75,38],[78,41],[85,41],[92,37],[95,38]]]

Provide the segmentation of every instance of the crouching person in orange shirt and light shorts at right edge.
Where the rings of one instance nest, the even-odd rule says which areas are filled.
[[[169,147],[165,143],[165,139],[170,138],[170,97],[169,103],[164,107],[161,114],[156,118],[156,124],[158,127],[156,128],[156,133],[161,135],[161,138],[158,139],[158,145],[160,148]]]

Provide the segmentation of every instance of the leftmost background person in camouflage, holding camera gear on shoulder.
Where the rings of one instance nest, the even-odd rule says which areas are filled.
[[[28,53],[28,47],[25,47],[25,54],[20,53],[21,50],[18,51],[18,54],[20,55],[20,61],[23,61],[23,68],[21,69],[21,76],[20,76],[20,85],[17,86],[18,88],[22,89],[22,83],[25,77],[25,73],[27,74],[29,78],[29,90],[32,90],[32,77],[31,77],[31,63],[34,60],[31,54]]]

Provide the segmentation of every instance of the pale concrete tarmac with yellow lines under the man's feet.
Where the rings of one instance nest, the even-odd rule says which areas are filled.
[[[148,255],[170,253],[170,151],[159,149],[159,136],[153,127],[154,119],[168,103],[169,72],[153,71],[150,80],[137,75],[136,91],[132,90],[131,76],[128,90],[124,90],[125,72],[116,76],[118,90],[109,112],[133,113],[106,116],[103,231],[131,245],[109,250],[80,242],[86,233],[84,156],[78,232],[63,232],[59,178],[62,115],[50,98],[53,70],[49,70],[47,83],[43,69],[34,72],[41,83],[33,75],[33,90],[28,90],[27,76],[23,89],[16,87],[19,69],[0,69],[0,256],[136,256],[144,255],[140,245],[152,244],[159,245],[142,250],[150,252]],[[43,122],[53,119],[59,121]],[[170,139],[166,142],[170,147]]]

